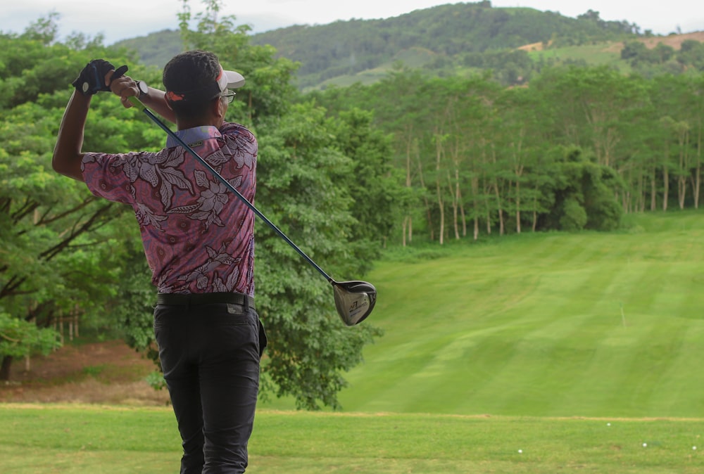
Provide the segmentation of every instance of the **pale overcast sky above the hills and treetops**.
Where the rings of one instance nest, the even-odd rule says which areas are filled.
[[[221,15],[235,15],[237,24],[246,23],[253,32],[290,25],[324,25],[351,18],[389,18],[420,8],[458,3],[451,0],[223,0]],[[118,3],[86,0],[3,0],[0,31],[23,32],[25,27],[51,12],[61,15],[59,34],[82,32],[105,35],[105,44],[151,32],[178,28],[177,13],[182,0],[121,0]],[[202,11],[203,3],[190,0],[191,13]],[[702,0],[492,0],[494,7],[525,6],[576,17],[598,11],[603,20],[627,20],[641,30],[655,34],[704,31]]]

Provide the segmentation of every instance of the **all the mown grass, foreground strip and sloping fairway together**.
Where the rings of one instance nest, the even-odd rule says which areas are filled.
[[[704,212],[628,219],[390,250],[346,412],[260,404],[248,472],[704,472]],[[0,425],[1,473],[180,456],[169,409],[0,405]]]

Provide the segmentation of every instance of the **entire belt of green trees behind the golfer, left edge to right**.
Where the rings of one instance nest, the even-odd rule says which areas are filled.
[[[545,67],[521,87],[505,87],[491,70],[398,69],[376,84],[302,94],[294,62],[252,44],[248,28],[218,18],[216,6],[196,15],[195,30],[181,14],[183,44],[244,74],[227,119],[258,137],[257,206],[341,280],[363,276],[388,245],[610,231],[624,213],[699,207],[704,74],[696,68]],[[59,41],[56,20],[0,34],[0,379],[13,359],[55,347],[53,321],[77,311],[83,324],[153,350],[154,289],[132,210],[97,200],[50,162],[69,84],[88,60],[127,64],[156,86],[161,72],[100,38]],[[624,51],[640,62],[650,54],[634,44]],[[84,150],[163,143],[144,115],[110,94],[94,99]],[[301,408],[337,407],[344,372],[380,332],[373,321],[342,326],[317,271],[267,226],[256,226],[256,239],[257,309],[270,333],[263,392],[291,395]]]

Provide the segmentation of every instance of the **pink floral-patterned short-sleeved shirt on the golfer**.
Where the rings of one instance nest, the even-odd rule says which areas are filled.
[[[224,123],[177,133],[254,202],[257,141],[248,129]],[[172,141],[156,153],[86,153],[84,181],[95,196],[132,206],[159,293],[253,296],[253,212]]]

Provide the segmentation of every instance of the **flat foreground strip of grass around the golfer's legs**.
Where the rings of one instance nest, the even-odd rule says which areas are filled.
[[[0,404],[0,424],[3,473],[173,473],[180,459],[166,408]],[[702,433],[704,419],[260,411],[247,472],[694,474]]]

